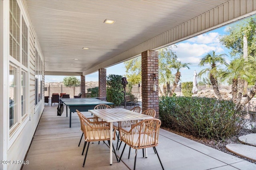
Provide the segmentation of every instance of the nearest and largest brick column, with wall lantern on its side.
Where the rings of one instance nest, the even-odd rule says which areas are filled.
[[[142,64],[142,111],[155,109],[156,118],[159,118],[159,97],[158,97],[158,51],[144,51],[141,53]],[[153,91],[156,76],[156,92]]]

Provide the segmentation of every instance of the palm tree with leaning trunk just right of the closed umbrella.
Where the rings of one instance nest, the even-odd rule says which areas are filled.
[[[205,68],[201,70],[198,75],[201,76],[202,74],[205,74],[206,72],[208,72],[208,75],[212,84],[212,88],[219,100],[221,100],[222,97],[218,89],[218,81],[217,81],[218,65],[217,64],[226,64],[224,56],[226,56],[226,54],[215,55],[215,51],[212,51],[211,53],[208,53],[206,56],[204,56],[199,63],[199,66],[205,66],[206,64],[210,64],[210,68]]]

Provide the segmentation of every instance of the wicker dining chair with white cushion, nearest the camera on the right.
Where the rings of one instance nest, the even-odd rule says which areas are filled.
[[[159,119],[146,119],[136,123],[135,125],[132,125],[132,129],[130,129],[130,131],[126,131],[125,129],[122,129],[122,127],[119,128],[120,140],[124,141],[125,143],[124,149],[126,145],[130,146],[133,149],[136,149],[134,159],[134,170],[136,169],[137,150],[149,147],[153,147],[154,150],[156,151],[162,169],[164,170],[164,167],[156,150],[156,146],[158,146],[159,143],[158,136],[160,125],[161,121]],[[122,150],[119,162],[124,153],[124,149]]]

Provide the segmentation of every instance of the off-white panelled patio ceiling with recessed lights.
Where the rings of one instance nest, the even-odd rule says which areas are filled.
[[[46,71],[83,72],[227,1],[26,0],[26,3]],[[106,24],[105,19],[116,22]]]

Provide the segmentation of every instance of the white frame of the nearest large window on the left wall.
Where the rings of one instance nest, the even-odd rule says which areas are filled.
[[[22,8],[20,8],[20,2],[19,1],[16,1],[16,0],[13,0],[12,3],[16,3],[17,4],[17,7],[19,8],[20,10],[20,27],[19,27],[19,32],[20,32],[20,35],[19,35],[19,38],[20,38],[20,46],[19,46],[19,49],[17,49],[19,51],[19,55],[20,55],[20,61],[17,61],[14,57],[11,56],[11,53],[10,53],[10,42],[8,43],[8,65],[9,65],[9,68],[8,68],[8,74],[10,74],[10,65],[12,66],[15,66],[17,68],[17,94],[16,94],[16,98],[17,98],[17,123],[15,123],[11,128],[10,128],[10,109],[8,111],[8,129],[9,129],[9,133],[8,133],[8,139],[9,139],[9,143],[8,143],[8,148],[10,148],[10,146],[12,145],[12,143],[14,143],[14,141],[16,140],[16,138],[18,137],[18,135],[20,134],[20,132],[22,131],[22,129],[24,128],[24,126],[26,125],[26,123],[29,121],[29,59],[30,59],[30,51],[29,51],[29,38],[30,38],[30,35],[29,35],[29,32],[30,32],[30,27],[29,27],[29,22],[27,20],[27,17],[24,15],[24,12],[22,11]],[[10,5],[11,2],[9,2],[9,5]],[[10,15],[10,6],[9,6],[9,15]],[[10,18],[10,16],[8,17]],[[22,20],[23,19],[23,20]],[[26,24],[26,28],[27,28],[27,45],[26,45],[26,48],[27,48],[27,63],[25,65],[22,64],[22,24],[23,22]],[[9,41],[10,41],[10,33],[11,33],[11,27],[10,27],[10,20],[8,21],[8,32],[9,32]],[[24,104],[24,107],[25,107],[25,113],[22,115],[22,72],[25,73],[25,78],[24,78],[24,81],[25,81],[25,84],[23,86],[24,90],[26,91],[24,93],[24,98],[26,98],[26,101],[25,101],[25,104]],[[8,75],[10,77],[10,75]],[[10,84],[10,80],[8,80],[8,84]],[[8,98],[10,96],[10,89],[8,89]],[[9,106],[10,107],[10,106]]]

